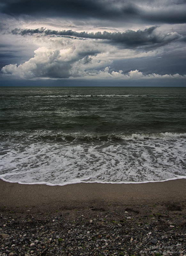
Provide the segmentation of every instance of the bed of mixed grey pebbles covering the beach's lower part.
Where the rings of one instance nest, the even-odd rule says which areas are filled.
[[[132,206],[130,207],[132,209]],[[122,210],[97,211],[91,213],[91,216],[90,212],[80,212],[77,211],[77,216],[74,212],[76,217],[71,217],[70,213],[58,216],[56,214],[55,217],[37,214],[32,217],[21,215],[16,219],[16,216],[13,216],[15,223],[7,221],[7,213],[6,219],[0,218],[0,247],[3,250],[0,256],[154,256],[153,251],[157,249],[151,248],[162,245],[173,246],[177,256],[186,256],[186,229],[174,220],[175,215],[171,219],[164,213],[164,221],[159,221],[156,215],[152,220],[151,213],[145,212],[141,217],[139,213],[132,211],[132,215],[127,212],[130,217],[123,217]],[[121,218],[122,223],[118,223]],[[133,221],[130,221],[131,218]],[[181,216],[179,221],[184,222],[185,219]],[[170,228],[171,224],[168,222],[176,223],[173,224],[174,229]],[[3,227],[5,223],[7,225]],[[182,229],[177,228],[178,226]],[[170,256],[166,253],[164,250],[161,255]]]

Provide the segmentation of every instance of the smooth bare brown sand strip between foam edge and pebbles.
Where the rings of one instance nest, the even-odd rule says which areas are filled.
[[[151,204],[186,200],[186,179],[140,184],[79,183],[66,186],[23,185],[0,180],[0,205],[10,210],[25,205],[52,212],[89,204]]]

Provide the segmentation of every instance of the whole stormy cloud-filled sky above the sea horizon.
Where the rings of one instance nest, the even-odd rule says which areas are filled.
[[[1,0],[1,86],[186,86],[186,0]]]

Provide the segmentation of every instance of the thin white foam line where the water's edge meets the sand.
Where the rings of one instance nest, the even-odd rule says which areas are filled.
[[[22,185],[47,185],[47,186],[66,186],[66,185],[72,185],[72,184],[79,184],[79,183],[101,183],[101,184],[141,184],[141,183],[155,183],[155,182],[165,182],[169,180],[180,180],[180,179],[186,179],[186,176],[177,176],[175,178],[167,179],[167,180],[146,180],[146,181],[120,181],[120,182],[112,182],[112,181],[74,181],[74,182],[65,182],[64,184],[58,183],[58,184],[53,184],[50,182],[31,182],[31,183],[26,183],[26,182],[21,182],[21,181],[11,181],[11,180],[6,180],[3,177],[0,178],[3,181],[9,182],[9,183],[18,183]]]

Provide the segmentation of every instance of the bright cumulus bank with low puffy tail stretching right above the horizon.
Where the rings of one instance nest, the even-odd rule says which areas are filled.
[[[179,74],[143,75],[139,70],[131,70],[124,74],[123,70],[114,71],[110,66],[106,66],[109,61],[98,60],[93,56],[81,56],[74,53],[75,46],[68,49],[47,49],[40,47],[35,50],[34,58],[23,64],[9,64],[2,68],[4,75],[15,76],[19,78],[112,78],[112,79],[154,79],[154,78],[183,78]],[[112,63],[112,61],[110,61]],[[97,68],[97,69],[95,69]],[[101,69],[99,69],[101,68]]]

